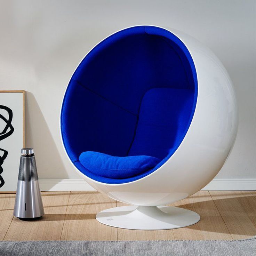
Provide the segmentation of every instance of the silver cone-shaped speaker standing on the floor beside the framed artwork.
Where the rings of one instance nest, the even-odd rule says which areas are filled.
[[[38,183],[34,150],[21,150],[19,176],[13,215],[20,219],[38,218],[45,214]]]

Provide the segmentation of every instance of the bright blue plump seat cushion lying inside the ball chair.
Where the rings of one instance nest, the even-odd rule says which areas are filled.
[[[154,168],[160,159],[147,155],[113,157],[104,153],[86,151],[80,154],[79,161],[91,173],[106,178],[123,179],[145,173]]]

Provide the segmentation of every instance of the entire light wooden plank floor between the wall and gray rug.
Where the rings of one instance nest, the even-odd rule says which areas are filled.
[[[196,211],[200,222],[174,230],[117,229],[96,221],[97,212],[122,206],[98,192],[42,192],[45,216],[13,217],[15,194],[0,194],[0,240],[233,240],[256,235],[255,191],[199,191],[175,206]]]

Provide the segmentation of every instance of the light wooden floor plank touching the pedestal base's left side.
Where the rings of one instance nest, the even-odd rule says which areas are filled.
[[[115,200],[99,192],[71,192],[61,240],[117,240],[117,229],[96,221],[96,213],[116,207]]]

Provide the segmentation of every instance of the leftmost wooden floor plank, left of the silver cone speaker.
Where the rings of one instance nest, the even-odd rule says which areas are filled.
[[[15,194],[0,194],[0,240],[5,237],[13,220],[14,202]]]

